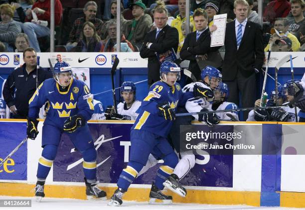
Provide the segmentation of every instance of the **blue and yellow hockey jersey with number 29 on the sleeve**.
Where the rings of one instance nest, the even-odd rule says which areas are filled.
[[[192,97],[192,92],[182,93],[178,83],[172,87],[162,81],[154,83],[148,96],[143,100],[139,108],[139,115],[131,129],[146,130],[167,138],[173,121],[165,120],[163,116],[158,115],[157,105],[168,103],[171,108],[176,110],[177,106],[185,105],[185,102]]]

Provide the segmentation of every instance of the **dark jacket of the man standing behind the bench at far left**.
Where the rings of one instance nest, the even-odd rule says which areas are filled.
[[[14,70],[7,78],[3,87],[3,98],[8,107],[15,105],[17,114],[25,118],[28,114],[28,101],[36,91],[37,87],[46,79],[52,78],[52,73],[39,68],[34,69],[29,74],[25,70],[25,64]]]

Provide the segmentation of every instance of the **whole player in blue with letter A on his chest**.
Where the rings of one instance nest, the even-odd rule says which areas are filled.
[[[94,110],[90,90],[84,82],[73,78],[69,64],[56,63],[54,79],[45,80],[29,100],[28,138],[35,139],[38,134],[38,112],[45,102],[50,106],[42,127],[43,150],[37,169],[36,201],[40,202],[45,196],[44,183],[64,132],[83,156],[87,198],[106,199],[106,193],[97,187],[97,154],[87,125]]]

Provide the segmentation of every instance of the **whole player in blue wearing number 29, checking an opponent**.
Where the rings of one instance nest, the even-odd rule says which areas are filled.
[[[164,160],[152,183],[150,203],[156,199],[164,204],[171,203],[171,196],[162,193],[162,183],[172,173],[178,158],[166,138],[175,119],[176,107],[184,105],[187,99],[193,97],[193,93],[182,93],[180,85],[176,83],[180,78],[180,68],[172,62],[161,65],[160,78],[160,81],[151,86],[131,128],[129,163],[120,175],[118,189],[111,197],[109,206],[122,205],[124,193],[146,165],[150,154]]]

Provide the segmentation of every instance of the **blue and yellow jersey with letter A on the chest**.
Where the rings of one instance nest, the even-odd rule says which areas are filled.
[[[48,102],[48,111],[44,123],[63,127],[64,121],[75,114],[89,120],[94,112],[94,105],[88,86],[72,79],[66,92],[59,92],[59,85],[54,79],[45,80],[29,100],[29,118],[38,118],[39,108]]]

